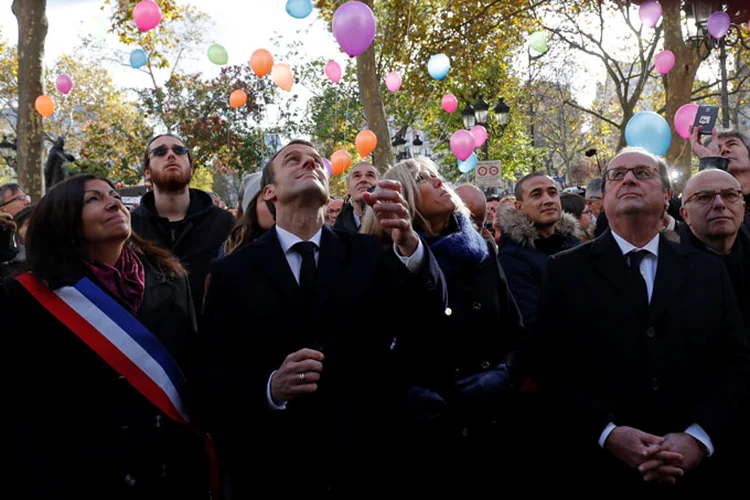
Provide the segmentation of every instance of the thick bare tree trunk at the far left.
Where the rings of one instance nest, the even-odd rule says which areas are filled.
[[[18,181],[38,201],[44,195],[44,124],[34,103],[44,93],[47,0],[13,0],[18,19]]]

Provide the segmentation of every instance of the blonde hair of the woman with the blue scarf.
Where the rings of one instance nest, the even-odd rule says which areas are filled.
[[[401,183],[401,196],[403,196],[406,201],[409,217],[412,220],[414,229],[421,230],[428,234],[434,234],[429,221],[422,216],[419,210],[417,210],[417,205],[422,203],[422,195],[419,192],[417,176],[421,171],[425,170],[443,181],[445,189],[448,191],[451,201],[453,201],[453,206],[456,207],[453,210],[453,213],[461,213],[466,216],[467,219],[471,220],[471,214],[466,207],[466,204],[456,194],[453,188],[445,182],[445,179],[440,175],[435,163],[425,156],[416,156],[412,159],[396,163],[396,165],[390,167],[381,177],[381,179],[393,180]],[[369,206],[365,210],[360,232],[364,234],[374,234],[378,236],[381,241],[388,241],[388,234],[383,230],[380,224],[378,224],[375,213]]]

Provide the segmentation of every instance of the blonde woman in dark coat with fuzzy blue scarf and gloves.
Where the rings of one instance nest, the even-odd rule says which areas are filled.
[[[394,339],[406,393],[397,453],[403,479],[424,496],[491,492],[512,459],[503,446],[508,429],[502,420],[514,391],[514,354],[524,337],[518,308],[494,245],[432,161],[400,162],[383,178],[401,183],[414,228],[445,275],[450,306],[441,317],[410,311],[415,320]],[[362,232],[385,238],[371,210]]]

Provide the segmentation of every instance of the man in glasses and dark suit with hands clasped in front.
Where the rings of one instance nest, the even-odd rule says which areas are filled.
[[[736,435],[750,382],[731,281],[718,259],[660,236],[661,158],[626,148],[604,179],[610,229],[550,258],[537,325],[540,385],[576,468],[564,481],[618,494],[716,487],[710,457]]]

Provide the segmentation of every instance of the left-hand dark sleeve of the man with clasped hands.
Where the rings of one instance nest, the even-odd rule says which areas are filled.
[[[590,390],[590,373],[578,362],[575,350],[577,318],[567,306],[574,284],[566,280],[565,263],[550,257],[541,290],[539,321],[533,330],[534,379],[577,439],[596,444],[614,415],[607,403]]]

